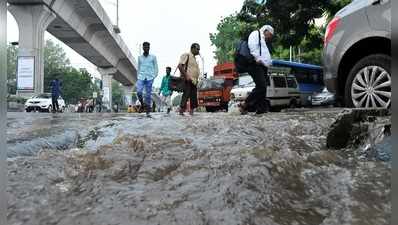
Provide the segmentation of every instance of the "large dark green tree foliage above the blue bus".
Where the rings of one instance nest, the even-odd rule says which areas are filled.
[[[275,28],[272,43],[273,57],[290,58],[290,46],[301,49],[300,60],[306,63],[321,63],[322,39],[325,26],[316,27],[315,19],[325,17],[329,21],[334,14],[351,0],[268,0],[257,4],[245,0],[239,13],[220,21],[217,32],[210,34],[216,46],[218,63],[233,60],[235,43],[250,31],[264,24]]]

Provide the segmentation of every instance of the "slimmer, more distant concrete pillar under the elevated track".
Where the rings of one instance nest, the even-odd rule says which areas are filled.
[[[98,68],[102,77],[102,105],[112,111],[112,80],[117,72],[115,68]]]

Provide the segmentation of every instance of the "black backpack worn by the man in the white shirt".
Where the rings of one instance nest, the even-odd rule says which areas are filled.
[[[258,31],[258,45],[260,46],[261,55],[261,34]],[[248,38],[240,40],[235,47],[234,54],[235,68],[238,73],[246,73],[249,68],[256,64],[256,59],[250,53]]]

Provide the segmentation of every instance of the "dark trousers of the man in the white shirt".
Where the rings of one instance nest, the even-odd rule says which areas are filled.
[[[261,65],[252,66],[249,74],[253,78],[256,87],[247,97],[245,104],[249,111],[267,112],[269,111],[267,98],[267,76],[268,68]]]

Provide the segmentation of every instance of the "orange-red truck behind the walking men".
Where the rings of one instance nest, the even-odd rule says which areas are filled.
[[[214,77],[203,80],[198,88],[199,106],[207,112],[228,111],[230,92],[239,75],[233,63],[224,63],[214,67]]]

